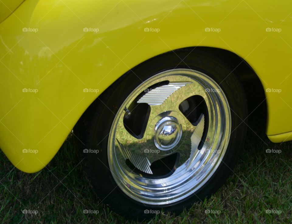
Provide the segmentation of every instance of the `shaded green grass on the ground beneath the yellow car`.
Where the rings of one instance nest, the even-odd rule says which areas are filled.
[[[256,116],[252,121],[238,163],[219,191],[179,216],[162,213],[144,223],[291,223],[292,142],[270,142]],[[0,222],[136,223],[96,197],[73,147],[76,141],[69,135],[47,167],[34,174],[14,168],[0,151]],[[23,209],[38,213],[23,214]],[[84,209],[99,213],[84,214]],[[208,209],[220,214],[206,214]]]

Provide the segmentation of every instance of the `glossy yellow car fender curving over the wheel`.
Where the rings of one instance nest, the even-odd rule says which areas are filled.
[[[26,0],[0,24],[0,148],[18,169],[42,169],[116,79],[191,46],[226,49],[251,65],[271,89],[266,133],[282,141],[292,131],[291,8],[288,0]]]

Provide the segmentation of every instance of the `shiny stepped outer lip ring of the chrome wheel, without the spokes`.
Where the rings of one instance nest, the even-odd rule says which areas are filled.
[[[147,87],[149,83],[154,82],[155,80],[160,79],[162,77],[168,77],[169,75],[185,75],[186,77],[192,78],[194,82],[196,81],[200,83],[202,86],[206,86],[206,84],[208,84],[207,86],[211,88],[215,87],[216,89],[221,90],[219,94],[218,93],[215,94],[212,92],[210,92],[209,94],[214,95],[213,98],[211,97],[211,99],[213,100],[213,103],[214,101],[215,102],[217,101],[217,104],[220,104],[220,103],[222,104],[221,105],[222,108],[220,108],[220,105],[219,105],[219,110],[221,113],[224,112],[224,115],[225,115],[224,117],[223,116],[221,117],[221,119],[222,118],[225,119],[225,126],[221,127],[221,129],[225,129],[224,130],[225,135],[224,135],[224,139],[219,144],[218,150],[220,151],[216,153],[216,156],[214,156],[215,155],[214,153],[211,155],[210,152],[208,152],[207,156],[204,156],[203,158],[204,161],[203,160],[202,161],[206,162],[206,160],[209,157],[207,162],[209,164],[211,163],[211,165],[206,166],[208,167],[207,169],[203,168],[206,173],[204,176],[202,176],[202,173],[200,173],[200,170],[198,171],[197,169],[193,169],[193,170],[191,169],[189,172],[183,172],[185,167],[181,165],[176,170],[176,175],[178,176],[178,178],[170,179],[167,182],[168,185],[162,186],[161,183],[159,184],[158,180],[151,180],[152,185],[149,185],[148,182],[145,181],[144,177],[137,178],[137,176],[135,176],[134,174],[129,174],[129,173],[124,172],[123,167],[117,161],[117,158],[116,158],[115,143],[114,143],[115,138],[114,138],[113,133],[115,133],[116,124],[119,120],[117,118],[119,118],[123,112],[123,106],[127,105],[133,99],[133,96],[137,94],[137,92],[141,92],[141,90],[143,91],[144,87]],[[219,101],[217,98],[219,99]],[[216,110],[216,107],[214,108],[214,110]],[[208,108],[208,111],[209,111],[209,108]],[[218,127],[216,124],[216,131],[217,129]],[[139,85],[134,91],[132,91],[132,93],[128,95],[127,99],[123,102],[120,109],[118,110],[116,117],[113,121],[112,127],[110,129],[110,135],[109,135],[109,141],[108,141],[109,168],[119,188],[127,196],[134,199],[135,201],[141,202],[144,204],[155,205],[155,206],[177,203],[179,201],[186,199],[193,192],[196,192],[213,176],[214,172],[217,170],[218,166],[221,164],[221,161],[225,155],[225,152],[229,143],[230,134],[231,134],[231,113],[229,109],[228,100],[226,96],[224,95],[224,92],[222,91],[221,87],[213,79],[211,79],[209,76],[207,76],[206,74],[202,72],[198,72],[192,69],[173,69],[173,70],[160,72],[152,76],[151,78],[147,79],[145,82]],[[210,148],[213,148],[213,146],[214,146],[214,142],[212,143]],[[215,149],[217,149],[217,146]],[[201,150],[204,150],[203,152],[206,152],[206,148],[205,149],[202,148]],[[200,181],[196,182],[195,179],[199,179]],[[130,180],[135,180],[136,182],[131,182]],[[149,180],[149,179],[146,178],[146,180]],[[155,187],[155,186],[159,186],[159,187]]]

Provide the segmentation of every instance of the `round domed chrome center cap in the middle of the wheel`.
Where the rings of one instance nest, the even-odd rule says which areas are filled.
[[[172,149],[182,137],[182,125],[175,117],[167,116],[160,119],[154,128],[154,143],[160,150]]]

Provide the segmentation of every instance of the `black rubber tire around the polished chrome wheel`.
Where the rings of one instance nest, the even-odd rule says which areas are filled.
[[[181,59],[184,59],[182,62]],[[245,141],[246,126],[242,122],[247,117],[247,103],[241,82],[232,69],[220,58],[209,53],[206,48],[185,48],[158,55],[137,65],[121,76],[82,115],[77,128],[82,133],[86,149],[98,149],[99,153],[82,153],[86,173],[96,194],[116,213],[130,219],[150,219],[155,214],[147,214],[145,209],[161,210],[161,206],[148,206],[126,196],[117,186],[109,169],[107,145],[110,128],[120,105],[127,96],[142,83],[159,72],[185,68],[209,75],[224,91],[231,111],[231,135],[227,151],[214,175],[194,192],[191,197],[163,206],[164,212],[179,214],[190,208],[196,201],[204,200],[216,192],[228,178],[234,167],[238,152]]]

